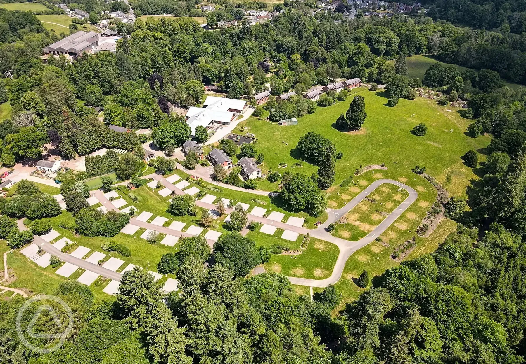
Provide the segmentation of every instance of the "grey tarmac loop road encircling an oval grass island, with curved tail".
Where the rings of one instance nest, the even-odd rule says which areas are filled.
[[[394,185],[399,186],[401,189],[407,190],[407,192],[409,193],[409,196],[400,205],[398,205],[396,209],[393,210],[389,214],[389,216],[387,216],[375,228],[375,230],[371,231],[369,234],[367,234],[367,236],[361,238],[360,240],[356,242],[351,242],[345,239],[341,239],[327,232],[326,228],[327,226],[329,226],[330,223],[338,221],[341,216],[348,213],[353,207],[359,204],[363,199],[365,199],[365,197],[367,197],[370,193],[375,191],[380,185],[384,183],[394,184]],[[398,219],[398,217],[404,211],[406,211],[407,208],[414,201],[416,201],[417,197],[418,197],[418,193],[416,191],[414,191],[408,185],[405,185],[398,181],[381,179],[381,180],[377,180],[371,183],[369,186],[367,186],[365,190],[360,192],[354,199],[349,201],[341,209],[328,210],[329,219],[327,219],[327,221],[321,226],[319,226],[316,230],[312,230],[310,233],[310,236],[317,237],[321,240],[325,240],[333,244],[336,244],[338,248],[340,249],[340,254],[338,254],[338,259],[336,260],[336,264],[332,270],[331,276],[326,279],[308,279],[308,278],[298,278],[298,277],[287,277],[287,278],[289,278],[292,284],[297,284],[297,285],[302,285],[302,286],[311,286],[311,287],[327,287],[329,284],[337,283],[338,280],[340,280],[341,274],[343,273],[343,268],[345,268],[345,263],[347,263],[347,259],[349,259],[349,257],[354,252],[356,252],[358,249],[366,246],[367,244],[375,240],[376,237],[380,236],[384,231],[386,231],[387,228],[391,226],[391,224],[395,222],[395,220]]]

